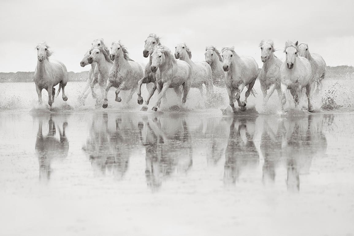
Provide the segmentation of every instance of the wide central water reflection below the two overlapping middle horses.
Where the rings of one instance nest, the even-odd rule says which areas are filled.
[[[187,122],[173,117],[154,117],[141,123],[145,146],[145,177],[152,190],[175,171],[186,173],[193,165],[193,149]]]

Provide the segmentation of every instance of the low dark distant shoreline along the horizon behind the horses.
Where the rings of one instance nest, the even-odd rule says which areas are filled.
[[[89,71],[68,72],[69,81],[86,81]],[[34,72],[0,72],[0,83],[4,82],[33,82]],[[327,66],[326,79],[354,79],[354,67],[347,65],[339,65],[337,67]]]

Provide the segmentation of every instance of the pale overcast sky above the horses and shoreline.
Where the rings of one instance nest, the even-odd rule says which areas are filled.
[[[187,43],[193,61],[204,60],[205,46],[235,46],[261,68],[258,44],[273,39],[281,59],[285,41],[298,40],[327,65],[354,66],[353,9],[352,0],[0,0],[0,72],[34,71],[41,41],[68,71],[89,70],[79,63],[97,38],[108,46],[120,39],[133,60],[146,62],[142,51],[150,33],[172,52]]]

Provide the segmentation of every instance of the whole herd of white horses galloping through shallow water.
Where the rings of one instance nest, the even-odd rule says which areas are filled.
[[[311,92],[319,92],[322,88],[322,80],[326,74],[324,59],[319,54],[311,54],[308,45],[304,43],[286,42],[284,62],[274,55],[275,48],[272,40],[262,40],[259,47],[263,62],[260,73],[255,59],[239,56],[234,47],[223,47],[221,52],[213,46],[206,47],[205,61],[193,62],[192,52],[185,43],[178,44],[173,55],[169,48],[161,44],[156,34],[150,34],[145,40],[143,50],[143,56],[149,57],[149,62],[143,69],[144,65],[130,59],[126,47],[120,41],[113,42],[109,50],[103,39],[97,39],[92,42],[91,48],[80,62],[81,67],[91,64],[91,69],[79,100],[85,101],[90,88],[92,97],[97,99],[94,87],[99,85],[104,97],[103,108],[108,106],[107,94],[111,87],[116,88],[117,102],[122,100],[119,97],[121,90],[130,90],[127,102],[137,90],[138,104],[143,104],[141,86],[153,83],[153,87],[148,89],[149,94],[142,110],[147,110],[150,98],[157,89],[158,99],[152,108],[157,111],[168,88],[173,88],[179,97],[183,92],[182,104],[184,104],[191,87],[198,88],[203,96],[204,84],[207,97],[213,95],[213,86],[226,87],[230,107],[235,112],[234,100],[241,109],[245,109],[250,94],[255,96],[253,85],[258,78],[263,92],[263,105],[267,103],[274,90],[277,90],[284,111],[285,93],[290,90],[297,107],[301,92],[306,91],[308,111],[312,112]],[[41,91],[45,89],[48,92],[48,104],[52,105],[55,97],[54,86],[57,84],[59,84],[57,96],[62,89],[62,98],[66,101],[68,97],[65,95],[64,88],[68,82],[68,73],[65,65],[49,60],[51,52],[47,44],[39,44],[36,48],[38,62],[34,81],[39,103],[42,102]],[[245,87],[247,87],[245,100],[241,101],[240,94]]]

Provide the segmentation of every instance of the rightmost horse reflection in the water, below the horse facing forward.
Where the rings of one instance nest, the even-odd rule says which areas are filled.
[[[281,153],[286,157],[287,189],[300,190],[300,174],[308,174],[315,155],[323,155],[327,140],[322,116],[294,117],[283,121]]]

